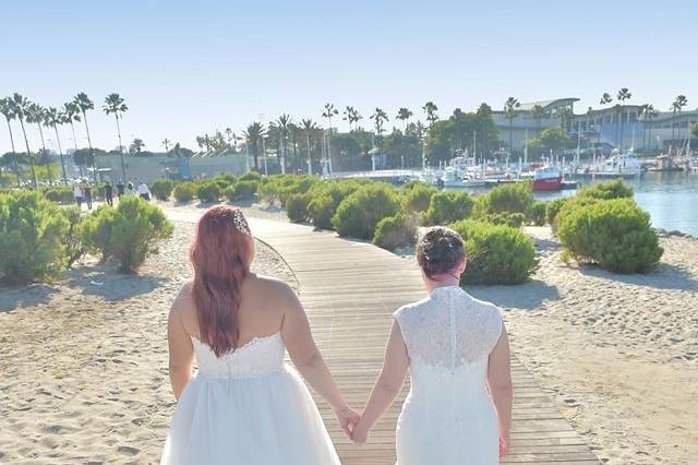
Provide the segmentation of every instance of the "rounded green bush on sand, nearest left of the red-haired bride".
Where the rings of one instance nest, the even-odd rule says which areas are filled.
[[[117,261],[124,273],[135,272],[173,231],[158,206],[136,196],[121,199],[116,208],[101,205],[83,220],[81,229],[86,249],[103,260]]]

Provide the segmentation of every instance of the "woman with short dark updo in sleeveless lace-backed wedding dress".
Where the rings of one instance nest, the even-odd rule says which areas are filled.
[[[453,229],[426,229],[417,262],[429,295],[394,313],[383,369],[352,440],[368,440],[409,369],[397,464],[498,464],[512,427],[509,343],[500,309],[460,288],[468,258]]]

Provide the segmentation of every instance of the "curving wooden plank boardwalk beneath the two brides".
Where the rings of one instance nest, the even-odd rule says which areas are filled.
[[[325,360],[349,404],[362,408],[382,366],[392,313],[425,296],[419,270],[411,261],[371,245],[309,226],[251,219],[251,227],[296,273]],[[512,369],[513,448],[505,463],[598,464],[515,356]],[[407,392],[408,385],[363,446],[344,437],[329,407],[318,401],[342,464],[395,463],[395,422]]]

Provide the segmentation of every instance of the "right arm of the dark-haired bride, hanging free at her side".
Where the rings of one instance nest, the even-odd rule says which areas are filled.
[[[504,456],[509,448],[509,431],[512,430],[512,355],[506,327],[502,323],[500,341],[490,354],[488,367],[488,384],[492,394],[494,409],[500,424],[500,455]]]

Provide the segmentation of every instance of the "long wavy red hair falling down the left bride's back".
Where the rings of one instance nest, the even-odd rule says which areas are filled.
[[[250,274],[250,230],[239,208],[217,205],[198,220],[189,251],[201,341],[217,357],[238,347],[242,282]]]

